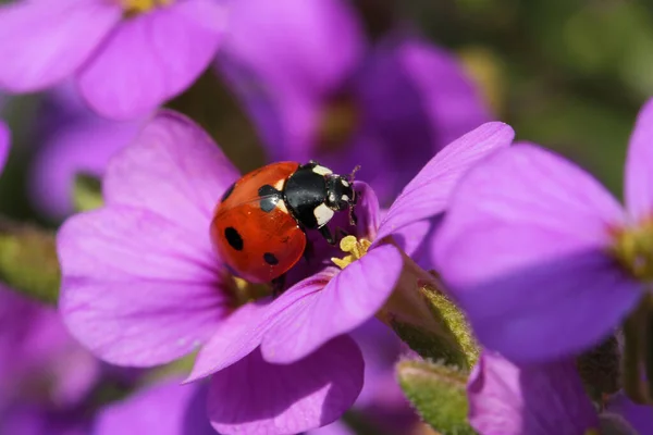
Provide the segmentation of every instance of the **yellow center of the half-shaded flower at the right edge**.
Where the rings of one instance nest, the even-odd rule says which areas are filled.
[[[653,282],[653,220],[617,229],[611,251],[636,278]]]

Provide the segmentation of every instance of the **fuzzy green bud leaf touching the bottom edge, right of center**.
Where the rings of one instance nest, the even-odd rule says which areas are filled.
[[[467,422],[467,374],[445,364],[405,360],[397,364],[404,394],[422,420],[443,435],[476,432]]]

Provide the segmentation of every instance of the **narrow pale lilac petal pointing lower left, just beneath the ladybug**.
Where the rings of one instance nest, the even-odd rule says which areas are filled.
[[[260,345],[263,335],[278,321],[280,314],[296,303],[303,303],[305,297],[322,289],[330,277],[329,272],[318,273],[298,283],[292,291],[285,291],[272,302],[260,300],[247,303],[233,312],[201,348],[186,382],[223,370],[248,356]]]

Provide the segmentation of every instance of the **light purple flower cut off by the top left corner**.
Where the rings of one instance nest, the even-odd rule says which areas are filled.
[[[130,119],[187,88],[215,54],[220,0],[28,1],[0,8],[0,89],[74,77],[98,113]],[[81,37],[83,35],[83,37]]]

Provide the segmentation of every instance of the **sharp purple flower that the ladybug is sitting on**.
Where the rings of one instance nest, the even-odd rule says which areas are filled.
[[[380,226],[373,192],[357,183],[355,234],[391,236],[442,211],[467,165],[510,140],[498,123],[458,139],[397,200],[412,210],[391,208]],[[157,115],[110,163],[107,206],[73,216],[59,233],[62,313],[83,344],[118,364],[165,363],[200,347],[190,378],[212,375],[209,418],[220,433],[284,434],[328,424],[362,384],[360,350],[344,334],[385,303],[402,256],[378,243],[343,272],[318,261],[301,265],[291,279],[297,284],[282,296],[243,304],[254,295],[226,273],[209,238],[213,209],[237,177],[196,125],[170,112]],[[415,236],[406,233],[408,245]],[[323,245],[316,244],[318,259],[338,254]]]

